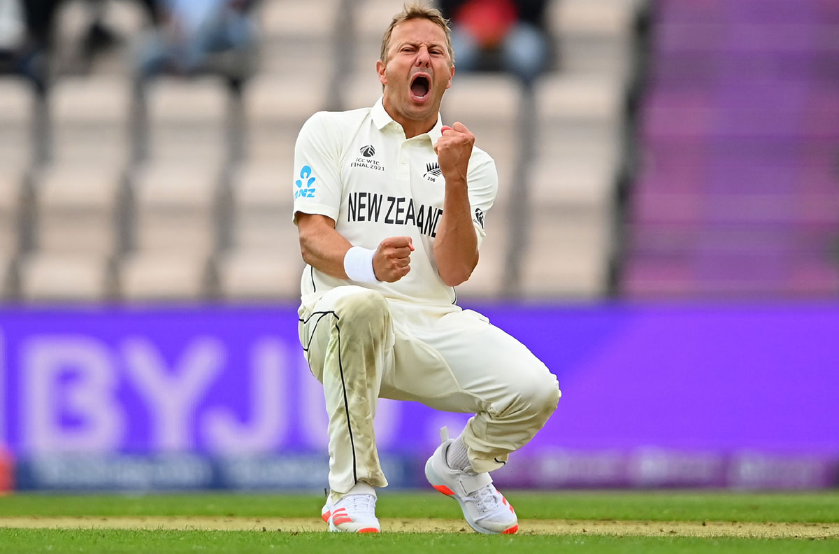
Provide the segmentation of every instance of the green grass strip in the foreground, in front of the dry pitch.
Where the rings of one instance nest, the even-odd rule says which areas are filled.
[[[612,554],[644,552],[727,552],[795,554],[836,552],[837,541],[793,539],[696,539],[691,537],[482,536],[400,533],[347,536],[329,533],[248,531],[0,530],[0,552],[108,552],[110,554],[189,552],[300,552],[301,554],[504,554],[574,552]]]

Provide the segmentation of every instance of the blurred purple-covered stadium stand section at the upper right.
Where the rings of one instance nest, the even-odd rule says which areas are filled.
[[[836,3],[656,17],[622,295],[836,295]]]

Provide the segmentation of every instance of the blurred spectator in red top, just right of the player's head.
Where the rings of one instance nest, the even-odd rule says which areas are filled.
[[[550,45],[545,30],[549,0],[439,0],[451,20],[451,45],[459,71],[508,71],[529,86],[545,70]]]

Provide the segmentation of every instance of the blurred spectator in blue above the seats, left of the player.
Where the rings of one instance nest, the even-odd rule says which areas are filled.
[[[213,71],[234,82],[247,78],[256,46],[254,0],[158,2],[162,22],[139,46],[138,81],[163,72]]]

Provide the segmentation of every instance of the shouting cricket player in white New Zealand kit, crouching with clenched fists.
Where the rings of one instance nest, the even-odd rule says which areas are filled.
[[[300,342],[329,415],[332,531],[378,532],[378,398],[474,413],[425,465],[480,533],[515,533],[489,472],[545,426],[560,398],[545,364],[456,305],[472,274],[498,175],[463,123],[440,120],[455,75],[445,18],[409,5],[376,62],[373,107],[315,113],[294,149],[294,222],[306,267]]]

